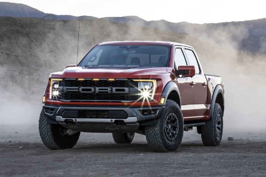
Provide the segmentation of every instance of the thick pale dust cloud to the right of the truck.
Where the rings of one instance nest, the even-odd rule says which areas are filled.
[[[247,29],[243,26],[216,28],[209,31],[207,36],[202,34],[200,37],[215,48],[209,47],[206,51],[195,48],[204,72],[223,79],[225,131],[266,132],[266,113],[263,111],[266,100],[265,55],[238,51],[239,41],[247,35]]]

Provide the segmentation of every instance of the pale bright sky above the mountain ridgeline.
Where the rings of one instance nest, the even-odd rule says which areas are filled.
[[[266,18],[263,0],[11,0],[45,13],[73,16],[139,16],[147,21],[219,23]]]

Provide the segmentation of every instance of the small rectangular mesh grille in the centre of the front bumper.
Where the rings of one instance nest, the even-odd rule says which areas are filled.
[[[79,110],[79,118],[109,118],[109,111]]]

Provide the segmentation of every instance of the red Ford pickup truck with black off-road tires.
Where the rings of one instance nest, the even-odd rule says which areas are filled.
[[[112,133],[116,143],[140,133],[155,152],[175,151],[193,127],[205,146],[218,146],[223,133],[224,84],[180,43],[97,44],[50,74],[43,103],[39,131],[52,150],[72,148],[80,132]]]

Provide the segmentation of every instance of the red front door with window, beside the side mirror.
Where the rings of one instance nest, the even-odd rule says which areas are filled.
[[[181,48],[175,49],[175,70],[178,66],[188,65],[185,59],[183,50]],[[182,77],[178,76],[178,89],[181,96],[181,110],[184,119],[193,118],[195,112],[195,80],[194,77]]]

